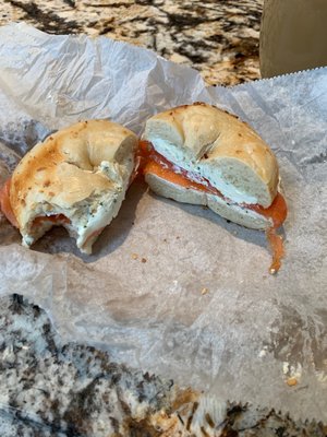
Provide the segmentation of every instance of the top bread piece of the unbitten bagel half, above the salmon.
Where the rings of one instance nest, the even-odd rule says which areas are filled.
[[[268,208],[276,197],[274,153],[247,123],[225,110],[204,103],[175,107],[149,118],[143,139],[234,202]]]

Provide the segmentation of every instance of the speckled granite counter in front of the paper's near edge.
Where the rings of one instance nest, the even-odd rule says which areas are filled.
[[[221,402],[143,375],[82,345],[62,345],[46,314],[0,298],[0,435],[324,437],[326,427]]]

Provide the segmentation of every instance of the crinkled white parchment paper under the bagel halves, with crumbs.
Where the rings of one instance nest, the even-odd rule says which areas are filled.
[[[63,341],[225,399],[326,421],[327,69],[206,88],[197,72],[138,47],[0,28],[9,172],[78,119],[109,117],[141,133],[148,116],[194,101],[239,115],[278,156],[289,216],[277,276],[263,233],[136,182],[90,257],[59,228],[27,250],[2,218],[0,292],[46,308]]]

